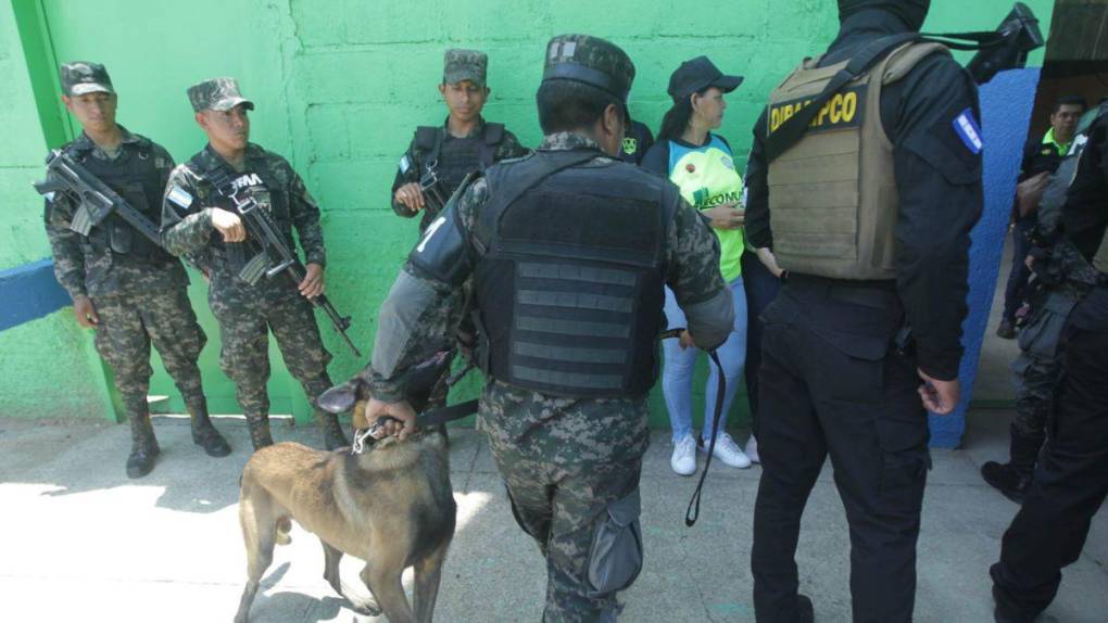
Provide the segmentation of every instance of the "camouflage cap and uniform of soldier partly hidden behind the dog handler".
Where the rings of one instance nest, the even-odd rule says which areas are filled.
[[[485,85],[489,58],[476,50],[447,50],[442,74],[443,84],[456,84],[462,81],[470,81],[476,86]],[[411,218],[418,212],[408,209],[407,206],[397,201],[397,188],[406,184],[419,183],[428,169],[432,169],[442,179],[442,189],[449,197],[461,185],[465,174],[471,170],[483,168],[482,150],[491,149],[492,162],[499,163],[507,158],[516,158],[527,154],[529,149],[520,145],[519,139],[511,132],[496,125],[495,137],[491,138],[495,145],[485,146],[483,138],[486,131],[492,132],[493,127],[481,117],[476,127],[466,136],[452,136],[448,131],[448,121],[441,126],[420,127],[416,131],[408,150],[401,156],[397,166],[397,177],[392,181],[392,210],[399,216]],[[435,141],[440,139],[437,150]],[[490,163],[491,164],[491,163]],[[427,198],[427,195],[424,195]],[[423,208],[423,216],[420,219],[419,231],[423,233],[427,226],[434,220],[441,207],[427,205]]]

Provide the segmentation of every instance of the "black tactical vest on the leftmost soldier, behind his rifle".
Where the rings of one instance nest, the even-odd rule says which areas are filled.
[[[114,160],[98,158],[92,148],[81,149],[70,145],[69,155],[123,197],[131,207],[142,212],[156,227],[162,222],[162,176],[155,166],[156,155],[146,139],[121,145]],[[176,259],[131,227],[117,215],[110,215],[81,239],[85,252],[104,255],[109,251],[129,256],[141,262],[165,263]]]

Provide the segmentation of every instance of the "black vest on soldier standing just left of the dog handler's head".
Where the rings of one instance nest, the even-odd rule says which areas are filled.
[[[493,165],[496,147],[504,139],[504,126],[486,123],[476,136],[452,136],[450,141],[445,138],[447,131],[442,126],[416,128],[416,147],[428,154],[423,159],[424,170],[434,169],[445,184],[447,191],[453,193],[461,186],[466,174],[484,170]]]

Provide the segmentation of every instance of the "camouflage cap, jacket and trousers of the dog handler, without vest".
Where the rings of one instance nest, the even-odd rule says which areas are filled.
[[[597,50],[597,40],[587,37],[565,35],[552,45],[565,41],[576,42],[577,63],[611,72],[623,62],[604,55],[614,46],[602,42],[604,46]],[[628,77],[628,89],[629,82]],[[566,132],[547,135],[538,147],[540,154],[584,149],[597,149],[597,144]],[[608,165],[613,159],[597,152],[593,160],[581,166]],[[490,186],[480,178],[448,208],[456,210],[462,239],[472,240],[474,222],[490,199]],[[702,323],[702,333],[696,332],[698,339],[704,335],[711,343],[715,335],[709,334],[718,332],[718,342],[722,342],[733,309],[719,273],[718,242],[696,210],[676,197],[675,206],[664,238],[667,284],[688,310],[695,311],[695,304],[708,305],[690,315],[690,322],[699,319]],[[465,279],[468,288],[472,276]],[[402,372],[450,344],[453,326],[465,311],[462,290],[428,278],[412,261],[406,264],[381,311],[371,375],[376,397],[401,399],[404,392],[397,380]],[[719,307],[710,307],[717,301]],[[707,314],[706,309],[710,310]],[[612,521],[609,515],[615,517],[617,507],[623,509],[623,520],[633,519],[637,529],[642,457],[649,443],[647,416],[645,393],[575,398],[493,377],[486,384],[478,424],[489,438],[517,522],[546,559],[544,621],[612,621],[619,612],[616,591],[629,585],[634,577],[623,586],[597,590],[589,573],[589,554],[594,534]],[[625,513],[628,505],[630,513]]]

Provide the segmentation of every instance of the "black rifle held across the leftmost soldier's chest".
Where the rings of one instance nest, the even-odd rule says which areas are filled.
[[[50,152],[47,158],[47,178],[35,181],[34,189],[43,196],[64,193],[80,201],[70,221],[70,229],[81,236],[88,236],[109,215],[116,214],[138,233],[158,247],[162,246],[157,226],[153,221],[61,149]]]

